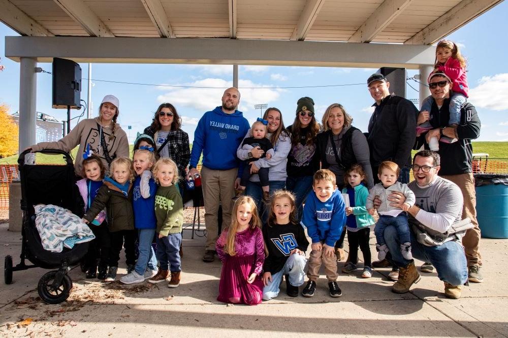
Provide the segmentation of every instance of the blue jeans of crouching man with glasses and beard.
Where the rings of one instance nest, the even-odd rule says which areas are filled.
[[[438,246],[425,246],[411,235],[411,254],[414,258],[431,262],[437,276],[443,282],[462,285],[467,281],[467,264],[464,248],[459,242],[449,241]],[[391,261],[399,267],[406,267],[411,260],[402,257],[397,231],[393,226],[385,229],[385,241],[391,253]]]

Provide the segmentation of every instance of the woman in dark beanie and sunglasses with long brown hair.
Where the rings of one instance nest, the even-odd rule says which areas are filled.
[[[320,125],[314,116],[314,100],[302,97],[297,102],[296,117],[288,127],[291,133],[291,151],[288,155],[286,189],[295,194],[298,219],[302,217],[302,204],[312,189],[312,177],[319,170],[316,152],[316,135]]]

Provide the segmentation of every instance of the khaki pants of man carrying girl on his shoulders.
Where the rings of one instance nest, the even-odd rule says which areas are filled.
[[[460,175],[444,175],[443,178],[451,180],[457,184],[464,197],[464,206],[462,207],[462,218],[469,217],[474,228],[468,229],[462,238],[462,245],[466,252],[467,266],[482,265],[482,255],[480,254],[480,227],[476,219],[476,192],[474,190],[474,177],[472,173]]]

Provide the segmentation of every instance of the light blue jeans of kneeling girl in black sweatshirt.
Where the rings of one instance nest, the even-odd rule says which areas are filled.
[[[268,282],[268,285],[263,288],[263,300],[269,301],[275,298],[280,291],[280,282],[282,276],[289,275],[289,282],[293,286],[303,285],[305,278],[305,262],[307,259],[305,256],[294,253],[289,256],[282,269],[272,275],[272,281]]]

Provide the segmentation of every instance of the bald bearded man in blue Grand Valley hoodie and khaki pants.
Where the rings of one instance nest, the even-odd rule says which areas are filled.
[[[219,204],[222,203],[223,207],[223,224],[229,226],[234,190],[240,183],[240,179],[237,179],[240,162],[236,157],[236,149],[250,126],[242,112],[237,110],[239,102],[238,89],[234,87],[226,89],[222,97],[222,106],[205,112],[194,132],[188,178],[193,179],[195,174],[199,174],[196,166],[203,152],[201,182],[207,231],[203,260],[206,262],[215,259]]]

